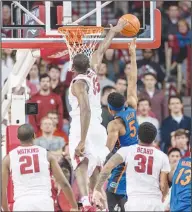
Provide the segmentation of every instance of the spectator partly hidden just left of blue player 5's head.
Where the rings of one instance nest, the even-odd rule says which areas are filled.
[[[108,111],[107,98],[110,93],[115,92],[115,88],[112,86],[105,86],[102,90],[101,105],[102,105],[102,125],[107,128],[108,123],[113,120],[113,117]]]

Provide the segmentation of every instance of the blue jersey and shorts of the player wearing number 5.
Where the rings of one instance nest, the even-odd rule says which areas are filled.
[[[125,146],[130,146],[138,143],[138,122],[136,118],[136,110],[128,107],[116,114],[116,118],[121,118],[124,122],[126,133],[120,136],[116,142],[113,153]],[[107,190],[109,192],[126,195],[126,166],[125,163],[120,164],[111,172],[111,177],[108,181]]]

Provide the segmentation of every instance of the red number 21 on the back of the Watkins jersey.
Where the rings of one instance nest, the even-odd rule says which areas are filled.
[[[32,156],[23,155],[19,158],[20,165],[20,172],[21,174],[31,174],[40,172],[39,169],[39,156],[34,154]]]

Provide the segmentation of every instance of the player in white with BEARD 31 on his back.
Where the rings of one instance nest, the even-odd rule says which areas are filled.
[[[126,164],[125,211],[164,211],[162,200],[168,192],[170,165],[167,155],[153,146],[157,135],[155,126],[144,122],[138,130],[139,144],[122,147],[112,156],[100,173],[93,201],[101,205],[101,188],[111,171]]]

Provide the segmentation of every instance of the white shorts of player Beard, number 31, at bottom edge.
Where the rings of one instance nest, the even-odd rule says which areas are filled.
[[[125,203],[125,211],[164,211],[163,203],[158,198],[128,197]]]

